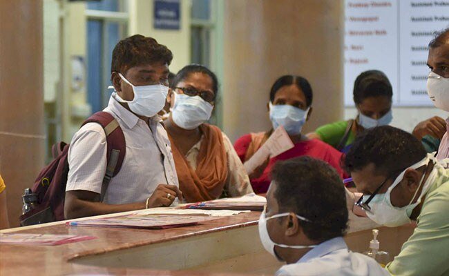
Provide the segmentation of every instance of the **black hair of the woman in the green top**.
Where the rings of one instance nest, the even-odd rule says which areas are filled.
[[[388,77],[379,70],[362,72],[354,81],[354,102],[361,103],[368,97],[385,96],[392,99],[393,89]]]

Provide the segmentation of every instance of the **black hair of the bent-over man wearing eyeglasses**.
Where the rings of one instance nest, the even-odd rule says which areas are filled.
[[[363,170],[374,164],[376,172],[390,177],[426,157],[417,138],[392,126],[370,128],[356,137],[344,159],[347,172]]]

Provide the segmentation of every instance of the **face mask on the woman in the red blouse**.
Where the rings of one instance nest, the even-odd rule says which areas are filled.
[[[271,124],[273,124],[273,129],[283,126],[289,135],[300,134],[307,119],[309,108],[302,110],[289,104],[274,106],[271,101],[268,103],[268,106],[269,119]]]

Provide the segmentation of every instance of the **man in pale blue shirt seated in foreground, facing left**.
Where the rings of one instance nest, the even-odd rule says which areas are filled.
[[[333,168],[298,157],[278,162],[271,179],[259,234],[265,249],[287,263],[276,275],[389,275],[348,250],[345,189]]]

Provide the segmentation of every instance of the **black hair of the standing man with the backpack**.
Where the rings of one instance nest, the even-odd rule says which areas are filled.
[[[169,48],[152,37],[135,34],[117,43],[113,50],[111,72],[124,74],[129,68],[146,63],[162,62],[170,65],[173,54]]]

